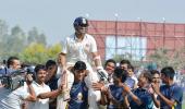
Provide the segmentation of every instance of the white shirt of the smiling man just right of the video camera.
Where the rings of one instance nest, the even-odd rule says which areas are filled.
[[[51,92],[50,87],[46,84],[39,85],[36,82],[33,82],[33,88],[35,90],[36,96],[42,93]],[[49,109],[49,98],[46,99],[37,99],[37,101],[32,102],[28,101],[28,109]]]

